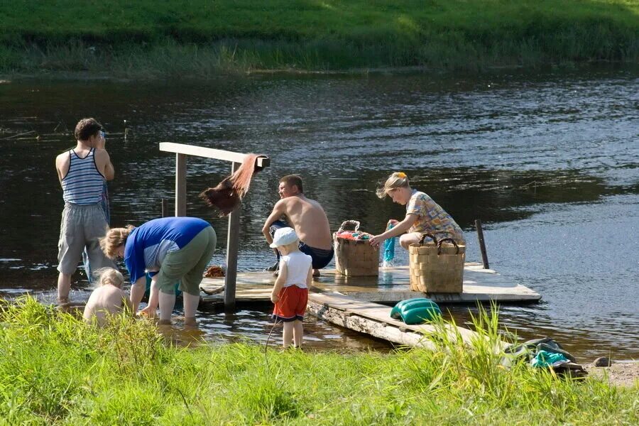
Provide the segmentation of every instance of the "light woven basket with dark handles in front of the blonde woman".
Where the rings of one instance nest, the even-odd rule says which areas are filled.
[[[424,242],[426,237],[432,241]],[[453,239],[437,242],[424,234],[419,243],[408,247],[410,290],[422,293],[461,293],[464,290],[466,246]]]

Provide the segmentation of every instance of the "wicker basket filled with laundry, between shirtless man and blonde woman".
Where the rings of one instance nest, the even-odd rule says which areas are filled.
[[[368,240],[350,240],[337,235],[344,231],[344,226],[352,225],[359,231],[359,222],[347,220],[333,234],[335,249],[335,268],[343,275],[354,277],[379,274],[379,247],[373,247]]]

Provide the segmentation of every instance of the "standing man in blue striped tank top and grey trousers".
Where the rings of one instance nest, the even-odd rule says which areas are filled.
[[[102,125],[94,119],[82,119],[75,126],[75,148],[55,158],[62,185],[65,208],[62,210],[58,241],[58,299],[66,302],[71,275],[82,259],[85,247],[92,270],[115,268],[100,249],[99,239],[108,228],[102,208],[104,183],[115,175],[109,153],[104,149]]]

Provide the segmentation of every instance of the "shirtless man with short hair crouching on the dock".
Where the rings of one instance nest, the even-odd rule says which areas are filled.
[[[280,179],[280,199],[268,216],[262,233],[268,244],[273,242],[273,232],[283,226],[291,226],[300,238],[300,251],[312,258],[313,276],[320,276],[320,269],[333,258],[331,229],[324,209],[319,202],[305,197],[300,175],[286,175]],[[283,216],[288,222],[280,220]],[[275,249],[278,262],[266,268],[277,271],[280,253]]]

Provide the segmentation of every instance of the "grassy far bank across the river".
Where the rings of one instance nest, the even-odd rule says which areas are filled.
[[[219,72],[639,60],[635,0],[73,0],[0,4],[0,72]]]

